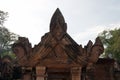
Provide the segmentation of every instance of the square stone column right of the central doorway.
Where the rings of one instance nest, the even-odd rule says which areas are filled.
[[[81,80],[81,68],[82,67],[72,67],[71,68],[72,80]]]

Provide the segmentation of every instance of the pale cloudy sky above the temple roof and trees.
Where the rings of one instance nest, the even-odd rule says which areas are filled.
[[[67,33],[86,45],[103,30],[120,28],[120,0],[0,0],[0,10],[8,12],[4,26],[38,44],[49,32],[49,24],[59,8],[67,23]]]

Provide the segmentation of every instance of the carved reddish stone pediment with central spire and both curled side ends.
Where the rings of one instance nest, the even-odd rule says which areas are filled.
[[[99,38],[96,38],[95,44],[89,41],[84,48],[78,45],[67,33],[67,25],[59,9],[52,16],[50,31],[41,38],[38,45],[31,48],[26,38],[23,37],[24,42],[20,39],[13,44],[13,51],[24,56],[24,58],[17,56],[20,58],[18,63],[24,66],[48,66],[50,64],[51,66],[57,64],[84,66],[88,63],[95,63],[104,50]]]

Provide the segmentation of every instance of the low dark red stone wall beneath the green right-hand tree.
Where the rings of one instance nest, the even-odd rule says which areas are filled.
[[[95,80],[114,80],[114,60],[99,59],[94,69]]]

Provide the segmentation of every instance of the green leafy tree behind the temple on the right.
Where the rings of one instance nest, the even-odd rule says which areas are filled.
[[[104,46],[105,57],[114,58],[120,62],[120,28],[114,30],[104,30],[99,34]]]

